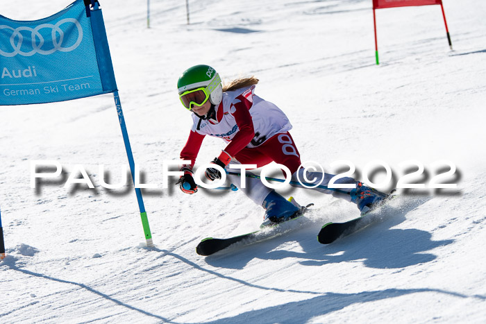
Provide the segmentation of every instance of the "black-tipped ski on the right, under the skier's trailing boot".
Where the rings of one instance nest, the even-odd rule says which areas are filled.
[[[394,191],[392,191],[393,193]],[[391,193],[391,194],[392,194]],[[321,244],[331,244],[333,241],[339,239],[340,237],[346,237],[366,228],[368,225],[373,223],[376,218],[372,217],[378,210],[380,210],[384,205],[386,205],[392,199],[398,197],[398,195],[391,195],[376,209],[370,210],[366,214],[361,215],[356,219],[351,219],[351,221],[345,221],[344,223],[326,223],[322,226],[319,234],[317,235],[317,240]]]

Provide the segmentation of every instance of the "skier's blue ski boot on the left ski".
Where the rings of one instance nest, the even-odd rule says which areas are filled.
[[[260,228],[288,221],[301,212],[301,208],[287,201],[275,190],[270,191],[265,201],[263,201],[262,207],[267,211]]]

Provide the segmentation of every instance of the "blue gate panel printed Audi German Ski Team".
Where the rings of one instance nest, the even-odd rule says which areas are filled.
[[[115,74],[98,11],[76,0],[55,15],[35,21],[0,15],[0,105],[114,92]]]

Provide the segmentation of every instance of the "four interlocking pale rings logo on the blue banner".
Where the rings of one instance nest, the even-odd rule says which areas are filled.
[[[64,40],[64,32],[60,28],[63,24],[74,24],[76,28],[78,28],[78,39],[72,46],[68,47],[63,47],[62,46],[62,41]],[[42,34],[39,32],[40,30],[48,28],[51,29],[51,39],[52,39],[52,49],[42,49],[42,46],[44,46],[44,37],[42,37]],[[12,28],[10,26],[6,25],[0,25],[0,32],[3,29],[8,29],[12,31],[12,35],[10,36],[10,45],[12,46],[11,52],[6,52],[2,51],[0,49],[0,55],[1,56],[6,56],[8,58],[12,58],[13,56],[16,56],[17,54],[20,54],[21,56],[33,56],[35,53],[39,53],[42,55],[49,55],[52,54],[56,51],[61,51],[61,52],[70,52],[76,49],[76,47],[81,44],[81,41],[83,40],[83,28],[81,27],[81,24],[74,19],[74,18],[65,18],[60,20],[57,24],[40,24],[39,26],[35,28],[31,27],[26,27],[26,26],[21,26],[17,28]],[[31,40],[32,40],[32,50],[31,51],[22,51],[22,42],[24,42],[24,36],[22,35],[22,31],[27,31],[32,34]],[[4,33],[4,32],[3,32]],[[2,34],[3,34],[2,33]]]

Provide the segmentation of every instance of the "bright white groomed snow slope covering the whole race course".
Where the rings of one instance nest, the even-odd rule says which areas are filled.
[[[151,1],[146,28],[146,1],[101,1],[135,162],[158,185],[143,191],[156,248],[132,185],[101,187],[100,164],[110,182],[127,164],[111,95],[0,107],[0,322],[484,323],[485,1],[444,0],[453,51],[439,6],[377,10],[379,66],[371,0],[189,2],[187,25],[185,1]],[[0,14],[40,19],[69,3],[1,1]],[[428,186],[446,160],[457,170],[440,182],[458,189],[401,190],[379,221],[328,246],[321,225],[355,206],[280,189],[315,203],[292,231],[196,255],[201,239],[255,230],[263,215],[240,191],[162,188],[162,161],[178,160],[191,124],[176,82],[196,64],[257,76],[303,161],[336,172],[349,160],[361,179],[381,160],[396,184],[416,160],[425,171],[412,182]],[[205,139],[198,164],[224,145]],[[31,189],[33,160],[57,160],[62,176]],[[64,187],[76,164],[94,189]]]

